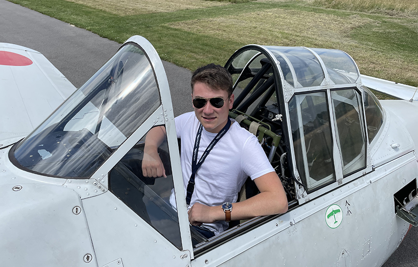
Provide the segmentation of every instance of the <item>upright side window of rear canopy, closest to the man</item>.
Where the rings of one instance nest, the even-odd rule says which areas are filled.
[[[296,167],[308,191],[335,181],[326,93],[295,95],[289,113]]]

